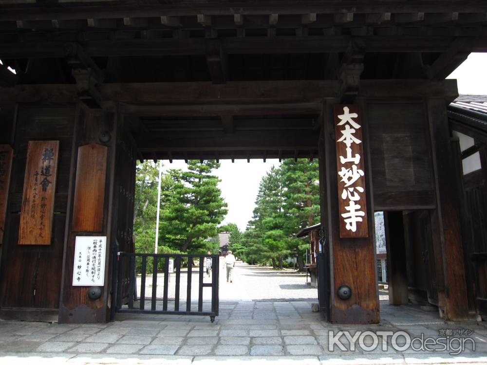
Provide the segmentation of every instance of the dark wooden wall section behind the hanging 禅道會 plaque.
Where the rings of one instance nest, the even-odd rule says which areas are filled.
[[[13,144],[15,158],[12,164],[0,270],[0,306],[3,308],[56,309],[59,306],[59,274],[63,255],[68,176],[71,170],[73,117],[74,106],[18,108]],[[59,141],[51,245],[18,245],[27,146],[31,140]]]

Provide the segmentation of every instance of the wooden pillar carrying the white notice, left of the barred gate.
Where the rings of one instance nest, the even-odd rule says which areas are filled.
[[[59,323],[105,323],[110,318],[110,285],[111,285],[111,243],[114,164],[117,148],[117,130],[119,121],[115,112],[90,110],[78,103],[76,108],[75,132],[71,157],[71,174],[69,178],[68,209],[63,256],[63,272],[61,282],[61,296],[59,302]],[[110,138],[104,138],[110,136]],[[108,147],[106,181],[101,230],[97,232],[75,232],[73,229],[73,207],[75,196],[76,164],[78,147],[98,144]],[[95,162],[93,162],[95,163]],[[94,213],[94,212],[93,212]],[[101,287],[101,297],[92,300],[88,297],[89,287],[73,286],[73,265],[75,256],[76,236],[106,236],[105,247],[105,280]]]

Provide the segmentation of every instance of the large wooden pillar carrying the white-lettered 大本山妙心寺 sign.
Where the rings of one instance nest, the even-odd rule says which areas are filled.
[[[365,103],[360,105],[363,128],[362,158],[365,160],[365,193],[368,224],[366,238],[340,238],[338,214],[338,174],[333,106],[336,99],[328,99],[323,107],[320,132],[320,197],[321,226],[326,240],[325,248],[330,257],[330,321],[343,324],[368,324],[379,322],[379,302],[375,273],[374,209],[370,153],[368,152],[367,119]],[[318,277],[319,280],[327,278]],[[346,285],[351,288],[351,297],[340,299],[337,290]]]

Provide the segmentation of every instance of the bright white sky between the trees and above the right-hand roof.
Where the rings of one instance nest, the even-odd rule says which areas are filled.
[[[449,78],[456,78],[458,91],[463,94],[487,94],[487,54],[471,54],[468,59],[453,72]],[[278,165],[278,160],[230,160],[220,161],[222,167],[216,175],[222,180],[219,184],[222,195],[228,204],[228,215],[224,223],[236,223],[245,230],[248,220],[252,217],[254,201],[259,191],[262,176]],[[165,168],[185,168],[184,161],[164,161]]]

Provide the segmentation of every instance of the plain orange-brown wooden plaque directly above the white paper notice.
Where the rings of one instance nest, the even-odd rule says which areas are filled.
[[[107,147],[91,144],[78,148],[73,231],[101,232],[107,175]]]

